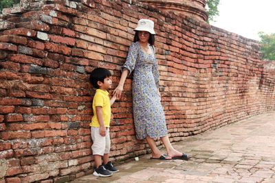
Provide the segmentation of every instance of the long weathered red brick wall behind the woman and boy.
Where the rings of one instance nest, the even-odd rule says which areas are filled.
[[[35,1],[0,15],[0,183],[66,182],[92,172],[89,73],[120,77],[138,19],[155,22],[171,141],[274,110],[274,63],[259,44],[136,1]],[[273,70],[272,70],[273,69]],[[135,139],[131,77],[112,108],[111,160],[146,154]],[[159,141],[157,141],[159,145]]]

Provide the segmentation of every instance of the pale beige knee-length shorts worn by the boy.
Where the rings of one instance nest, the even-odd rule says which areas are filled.
[[[91,150],[93,155],[103,156],[104,154],[110,153],[110,134],[109,127],[106,128],[106,136],[101,136],[99,134],[100,127],[91,127],[91,140],[93,140],[93,145],[91,145]]]

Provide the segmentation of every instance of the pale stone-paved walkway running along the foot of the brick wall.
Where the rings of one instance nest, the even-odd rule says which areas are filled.
[[[120,172],[109,178],[91,174],[73,183],[275,182],[275,111],[186,137],[173,146],[192,158],[140,156],[115,164]]]

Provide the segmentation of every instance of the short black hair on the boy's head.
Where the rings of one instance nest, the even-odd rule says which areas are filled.
[[[95,88],[99,88],[98,81],[103,83],[104,79],[110,76],[111,72],[108,69],[98,67],[94,71],[91,71],[90,82]]]

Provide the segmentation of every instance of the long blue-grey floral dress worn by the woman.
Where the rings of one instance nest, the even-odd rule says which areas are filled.
[[[142,51],[139,42],[132,42],[123,69],[133,71],[133,119],[137,139],[146,136],[158,138],[167,135],[164,110],[158,94],[159,71],[155,58],[154,47],[152,53]]]

